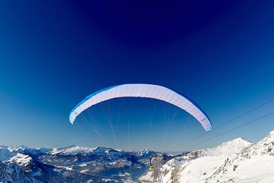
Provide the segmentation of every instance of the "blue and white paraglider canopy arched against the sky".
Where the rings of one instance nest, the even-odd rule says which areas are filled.
[[[69,121],[73,124],[75,118],[87,108],[102,101],[119,97],[146,97],[166,101],[186,110],[201,123],[206,131],[212,128],[210,119],[194,101],[175,90],[154,84],[121,84],[92,93],[71,111]]]

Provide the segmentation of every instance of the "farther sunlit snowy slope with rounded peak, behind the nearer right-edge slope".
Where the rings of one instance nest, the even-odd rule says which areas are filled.
[[[173,158],[162,167],[163,180],[164,182],[205,182],[227,158],[235,157],[251,144],[243,138],[236,138],[214,148],[200,149]],[[181,178],[184,178],[184,181]]]

